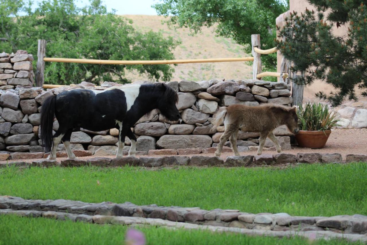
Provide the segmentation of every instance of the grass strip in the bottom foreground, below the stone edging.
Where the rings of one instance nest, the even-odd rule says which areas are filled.
[[[125,244],[129,227],[73,223],[43,218],[0,216],[0,245],[12,244]],[[300,237],[250,237],[235,233],[213,233],[200,230],[168,230],[163,227],[134,227],[145,234],[147,244],[310,244]],[[319,244],[351,244],[341,239],[317,240]],[[362,244],[356,242],[355,244]]]

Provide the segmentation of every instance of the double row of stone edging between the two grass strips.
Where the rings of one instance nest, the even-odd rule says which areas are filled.
[[[0,196],[0,214],[12,213],[20,216],[49,217],[60,220],[71,219],[98,224],[174,226],[174,223],[166,221],[168,220],[206,226],[205,228],[228,228],[221,231],[246,233],[247,230],[253,230],[253,234],[260,235],[268,234],[270,231],[270,234],[273,235],[279,232],[279,236],[295,234],[291,231],[297,231],[297,234],[314,231],[314,234],[319,234],[320,237],[324,235],[333,237],[333,234],[335,234],[335,237],[367,241],[365,235],[367,233],[367,216],[360,214],[306,217],[290,216],[287,213],[252,214],[240,212],[240,210],[202,210],[199,207],[164,207],[155,204],[138,206],[130,202],[120,204],[112,202],[86,203],[64,199],[26,200],[12,196]],[[179,227],[194,228],[190,225]],[[195,226],[195,228],[199,227]]]

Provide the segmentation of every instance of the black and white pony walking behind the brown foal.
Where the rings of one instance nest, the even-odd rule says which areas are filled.
[[[41,140],[48,159],[56,159],[56,149],[63,142],[69,159],[75,155],[70,148],[73,129],[90,131],[119,129],[116,157],[123,156],[125,136],[131,140],[129,156],[135,156],[137,138],[131,127],[150,111],[160,110],[168,120],[177,121],[180,114],[176,107],[177,93],[163,83],[125,85],[106,90],[75,89],[49,97],[41,108]],[[59,129],[52,135],[54,115]]]

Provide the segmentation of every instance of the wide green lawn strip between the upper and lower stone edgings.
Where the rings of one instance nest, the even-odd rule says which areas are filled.
[[[0,168],[0,195],[239,209],[293,216],[367,215],[367,164],[254,168]]]

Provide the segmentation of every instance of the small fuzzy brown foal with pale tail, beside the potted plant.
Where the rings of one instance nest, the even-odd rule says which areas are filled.
[[[236,156],[240,153],[237,150],[237,134],[240,129],[243,132],[259,132],[260,145],[257,155],[261,155],[266,137],[269,137],[276,146],[277,152],[281,152],[281,148],[273,130],[280,126],[286,125],[293,134],[298,134],[298,117],[297,107],[278,106],[274,104],[266,104],[261,106],[244,106],[235,104],[228,107],[222,107],[217,112],[212,129],[216,129],[224,120],[224,134],[220,138],[215,156],[220,156],[224,143],[230,139],[233,151]]]

